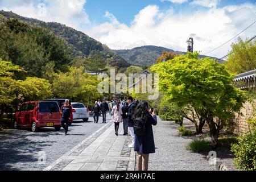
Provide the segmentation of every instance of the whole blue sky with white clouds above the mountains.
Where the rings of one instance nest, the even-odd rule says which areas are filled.
[[[112,49],[187,51],[186,40],[193,37],[195,51],[218,58],[237,38],[214,48],[256,21],[256,0],[0,0],[0,10],[65,24]],[[255,34],[256,23],[240,36]]]

